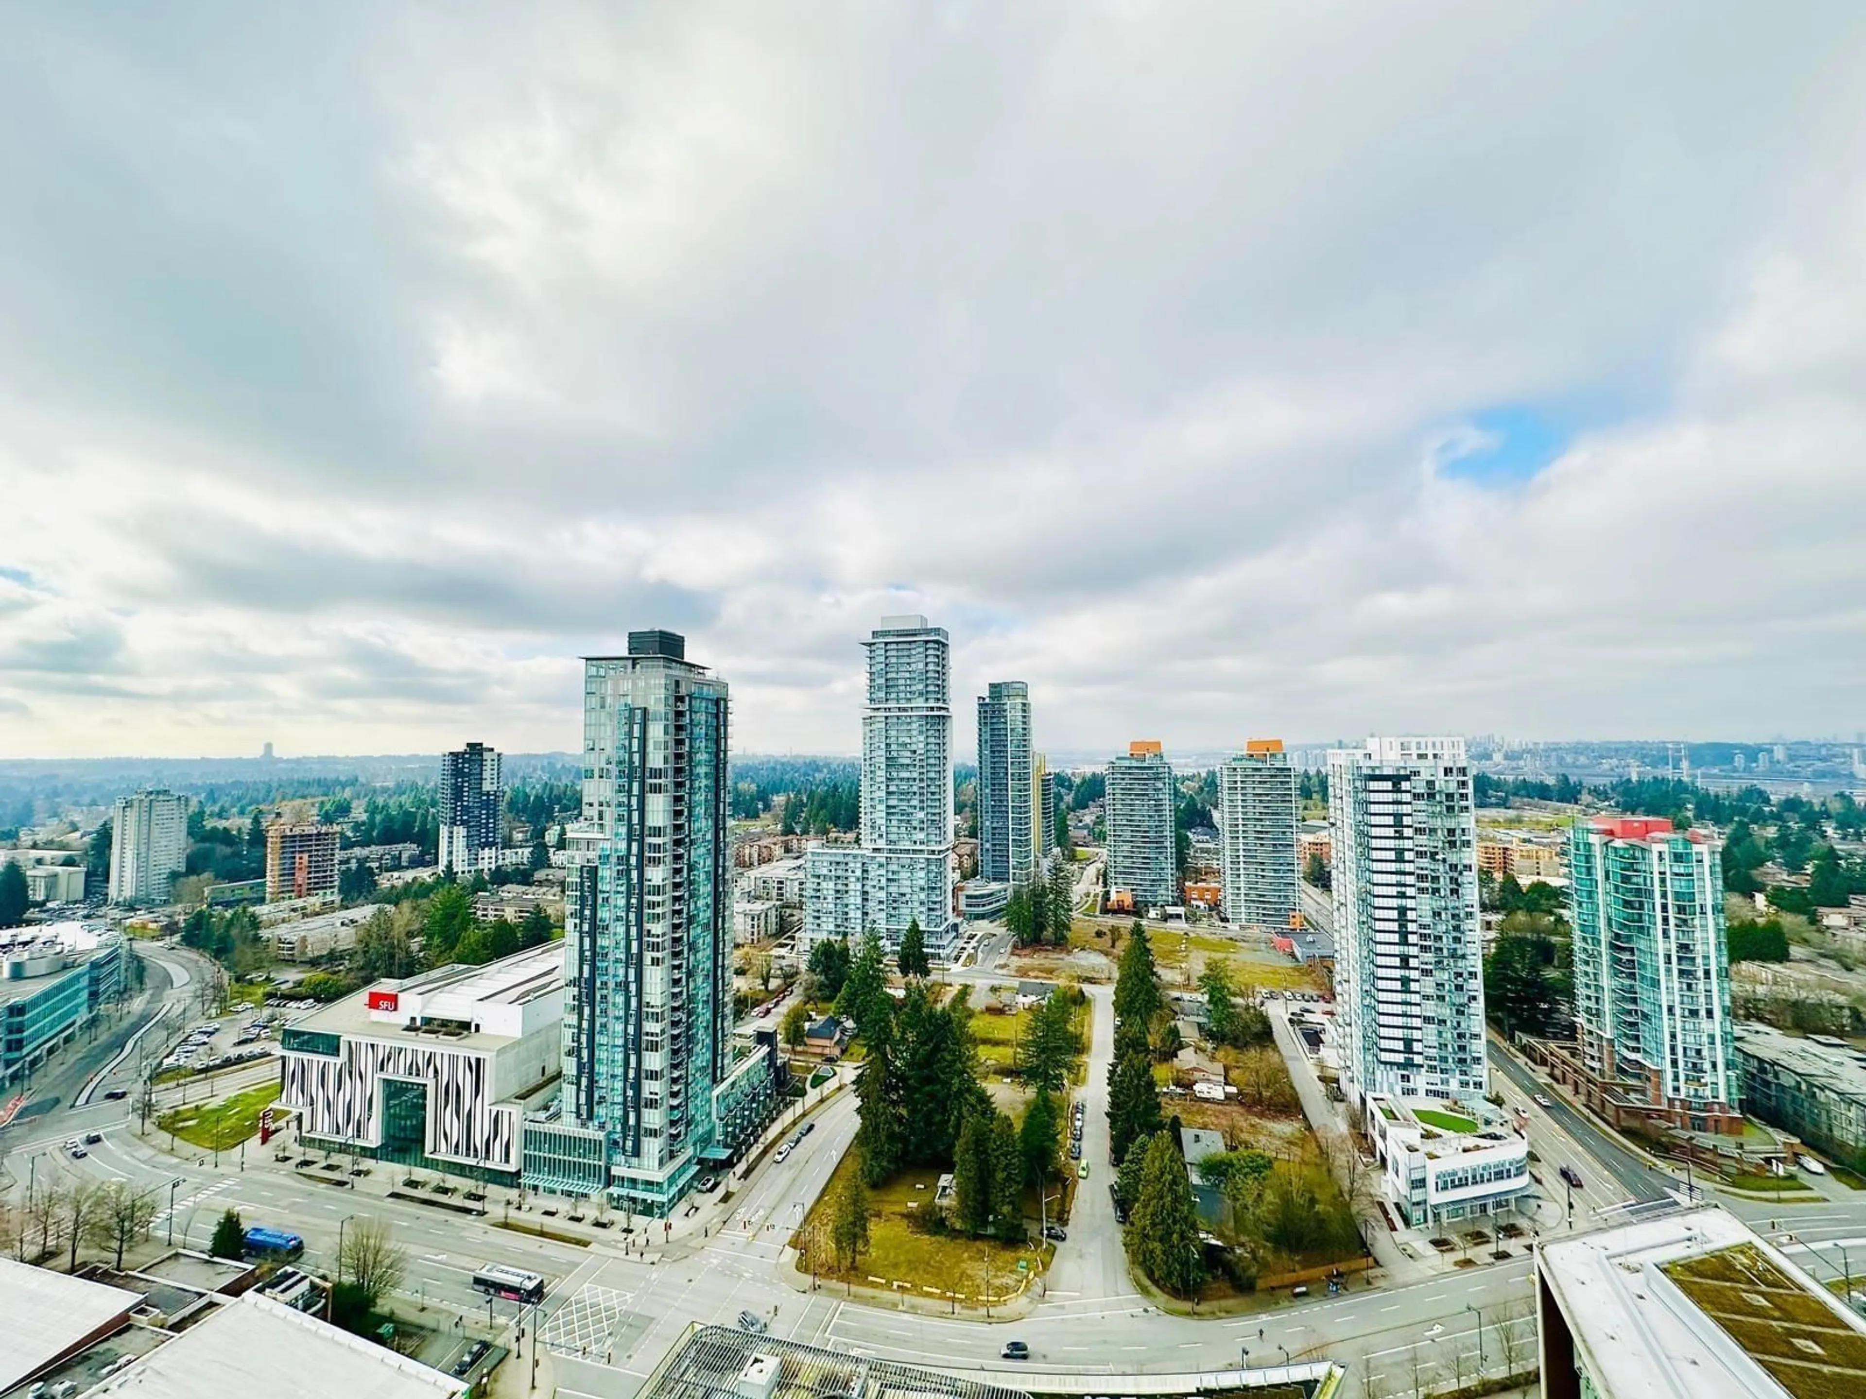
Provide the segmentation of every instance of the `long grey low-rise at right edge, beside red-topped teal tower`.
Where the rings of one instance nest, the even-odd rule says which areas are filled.
[[[1801,1039],[1765,1024],[1739,1024],[1734,1046],[1752,1117],[1866,1168],[1866,1054],[1845,1041]]]

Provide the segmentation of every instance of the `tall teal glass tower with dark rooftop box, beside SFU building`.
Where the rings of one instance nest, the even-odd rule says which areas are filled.
[[[720,1155],[731,1067],[726,683],[675,632],[584,658],[582,819],[565,832],[564,1115],[610,1194],[664,1214]]]

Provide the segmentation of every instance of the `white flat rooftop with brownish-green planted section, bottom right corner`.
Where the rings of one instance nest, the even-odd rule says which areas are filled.
[[[1612,1393],[1866,1393],[1866,1321],[1722,1209],[1545,1242],[1539,1270]]]

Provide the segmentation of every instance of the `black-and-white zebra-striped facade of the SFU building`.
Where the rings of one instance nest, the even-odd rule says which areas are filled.
[[[519,1106],[491,1101],[491,1054],[343,1035],[330,1054],[285,1046],[282,1058],[280,1102],[297,1108],[302,1136],[379,1149],[384,1140],[383,1086],[399,1080],[427,1091],[425,1155],[519,1170]]]

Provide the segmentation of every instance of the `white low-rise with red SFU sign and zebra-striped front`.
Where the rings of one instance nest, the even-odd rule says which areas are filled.
[[[377,981],[285,1028],[280,1106],[313,1147],[517,1184],[562,1017],[562,942]]]

